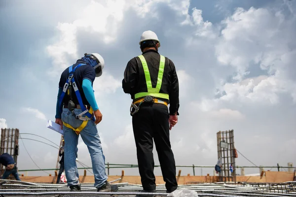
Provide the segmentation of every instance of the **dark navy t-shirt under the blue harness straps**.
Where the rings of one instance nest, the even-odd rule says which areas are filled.
[[[75,66],[77,66],[78,64],[85,64],[85,62],[83,60],[77,60],[76,64],[73,65],[73,68]],[[68,77],[69,77],[69,68],[66,68],[63,73],[61,74],[61,78],[60,78],[60,82],[59,82],[59,88],[63,89],[64,86],[65,86],[65,83],[66,83],[66,80],[68,80]],[[87,99],[85,98],[85,95],[83,93],[83,90],[82,90],[82,81],[83,79],[88,79],[91,81],[91,84],[93,84],[94,80],[96,78],[96,72],[95,72],[95,69],[90,66],[90,65],[82,65],[80,67],[78,67],[76,70],[75,70],[75,73],[74,73],[74,79],[75,79],[75,82],[76,82],[76,85],[77,85],[77,88],[79,90],[79,93],[81,95],[81,99],[82,99],[82,102],[84,105],[89,105],[89,102],[87,101]],[[73,92],[72,92],[72,99],[74,101],[74,103],[76,105],[79,104],[77,98],[76,98],[76,95],[75,95],[75,92],[74,92],[74,89],[73,89]],[[68,104],[70,100],[70,97],[68,96],[68,94],[66,93],[65,94],[65,97],[63,99],[63,102],[64,104]]]

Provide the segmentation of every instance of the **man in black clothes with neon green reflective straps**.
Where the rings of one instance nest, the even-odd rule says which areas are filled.
[[[122,88],[133,99],[131,115],[143,192],[155,192],[156,188],[152,155],[154,138],[165,186],[170,193],[178,186],[169,130],[178,122],[179,81],[175,65],[158,53],[159,47],[154,32],[142,34],[142,55],[127,63]]]

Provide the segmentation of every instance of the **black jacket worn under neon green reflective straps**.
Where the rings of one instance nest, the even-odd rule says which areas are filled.
[[[145,57],[148,65],[152,87],[155,88],[160,55],[155,50],[147,50],[142,55]],[[135,57],[127,63],[124,71],[124,79],[122,80],[122,89],[125,93],[131,95],[131,99],[135,99],[135,94],[139,92],[147,92],[144,69],[139,57]],[[167,57],[165,57],[165,66],[159,93],[169,95],[169,100],[167,101],[170,103],[170,115],[174,115],[176,111],[177,115],[179,115],[179,80],[174,63]]]

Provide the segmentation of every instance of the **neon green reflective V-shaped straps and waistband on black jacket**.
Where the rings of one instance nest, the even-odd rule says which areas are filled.
[[[142,66],[144,69],[144,74],[145,74],[145,79],[146,79],[146,84],[147,84],[147,90],[148,92],[142,92],[142,93],[137,93],[135,94],[135,99],[140,98],[140,97],[145,97],[145,96],[152,96],[152,97],[158,97],[162,99],[169,99],[168,94],[163,94],[159,93],[161,84],[162,84],[162,77],[163,77],[163,72],[164,72],[164,65],[165,65],[165,57],[160,55],[160,62],[159,62],[159,70],[158,70],[158,76],[157,76],[157,84],[155,88],[152,88],[152,82],[150,78],[150,73],[148,69],[147,62],[144,58],[143,55],[138,56],[142,62]]]

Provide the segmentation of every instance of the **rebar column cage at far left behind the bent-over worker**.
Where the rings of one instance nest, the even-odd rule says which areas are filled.
[[[17,156],[19,154],[19,130],[18,129],[1,129],[1,141],[0,141],[0,154],[8,153],[14,159],[17,164]],[[0,177],[2,177],[5,170],[5,166],[0,164]],[[13,179],[12,174],[8,179]]]

